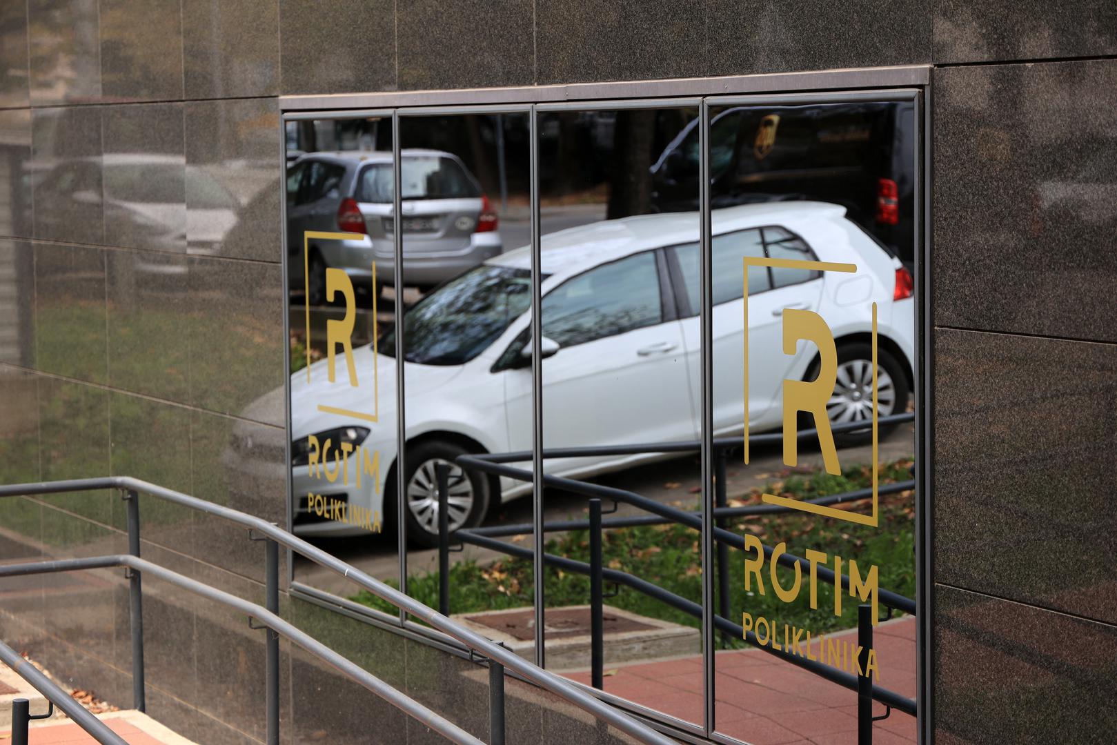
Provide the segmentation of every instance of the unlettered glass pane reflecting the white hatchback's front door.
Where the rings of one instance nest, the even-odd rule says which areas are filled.
[[[617,522],[657,516],[634,497],[684,517],[700,508],[701,334],[698,318],[684,312],[686,278],[698,276],[698,161],[696,151],[679,152],[697,133],[697,118],[693,108],[564,111],[541,114],[538,127],[542,267],[550,275],[542,309],[543,467],[571,479],[543,494],[546,551],[584,566],[594,488],[619,489],[632,498],[621,496],[615,514],[602,500],[602,563],[655,582],[691,609],[703,596],[700,531],[670,518]],[[736,277],[739,296],[739,259]],[[665,457],[665,442],[690,448]],[[554,457],[557,448],[588,449]],[[538,623],[546,667],[700,724],[701,614],[624,585],[612,593],[610,584],[603,675],[594,680],[589,573],[545,566]],[[681,688],[665,696],[671,689],[649,686],[649,676]]]

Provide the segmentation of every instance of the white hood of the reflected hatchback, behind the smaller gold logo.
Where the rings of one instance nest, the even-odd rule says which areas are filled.
[[[360,388],[349,384],[349,370],[345,356],[337,352],[335,361],[336,380],[331,383],[327,376],[327,360],[319,360],[311,365],[311,382],[307,382],[306,370],[299,370],[290,376],[290,427],[292,439],[322,432],[345,424],[360,424],[373,429],[389,428],[392,436],[395,432],[395,360],[384,354],[376,355],[378,380],[373,385],[372,346],[366,345],[354,350],[353,362],[356,367]],[[461,374],[462,365],[420,365],[405,363],[404,392],[408,398],[423,395],[447,385]],[[375,391],[375,395],[373,392]],[[379,399],[379,407],[378,407]],[[355,417],[324,412],[318,407],[346,409],[361,413],[375,413],[379,422],[371,423]]]

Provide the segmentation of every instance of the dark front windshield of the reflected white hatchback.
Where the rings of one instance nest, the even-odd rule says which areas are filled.
[[[403,315],[403,359],[424,365],[469,362],[532,306],[528,269],[480,265],[417,303]],[[395,353],[395,333],[381,354]]]

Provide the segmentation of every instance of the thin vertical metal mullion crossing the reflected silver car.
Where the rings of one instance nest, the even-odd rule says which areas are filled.
[[[392,112],[392,242],[395,283],[395,542],[400,556],[400,592],[408,591],[408,538],[407,538],[407,422],[403,417],[403,208],[400,202],[402,189],[402,147],[400,146],[400,113]],[[375,288],[373,289],[375,292]],[[407,612],[400,609],[400,622],[405,623]]]

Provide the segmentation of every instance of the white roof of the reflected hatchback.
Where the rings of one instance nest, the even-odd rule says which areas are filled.
[[[793,229],[796,222],[837,220],[844,214],[844,207],[829,202],[765,202],[714,210],[712,221],[714,235],[720,236],[772,225]],[[576,274],[639,251],[697,242],[697,212],[641,214],[547,233],[541,246],[541,269],[545,275]],[[529,269],[531,247],[513,249],[486,264]]]

